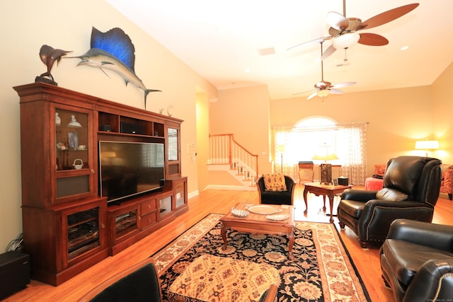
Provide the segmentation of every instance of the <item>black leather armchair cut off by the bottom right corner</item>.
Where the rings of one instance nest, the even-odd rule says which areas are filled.
[[[453,226],[397,219],[380,250],[395,301],[452,301]]]

